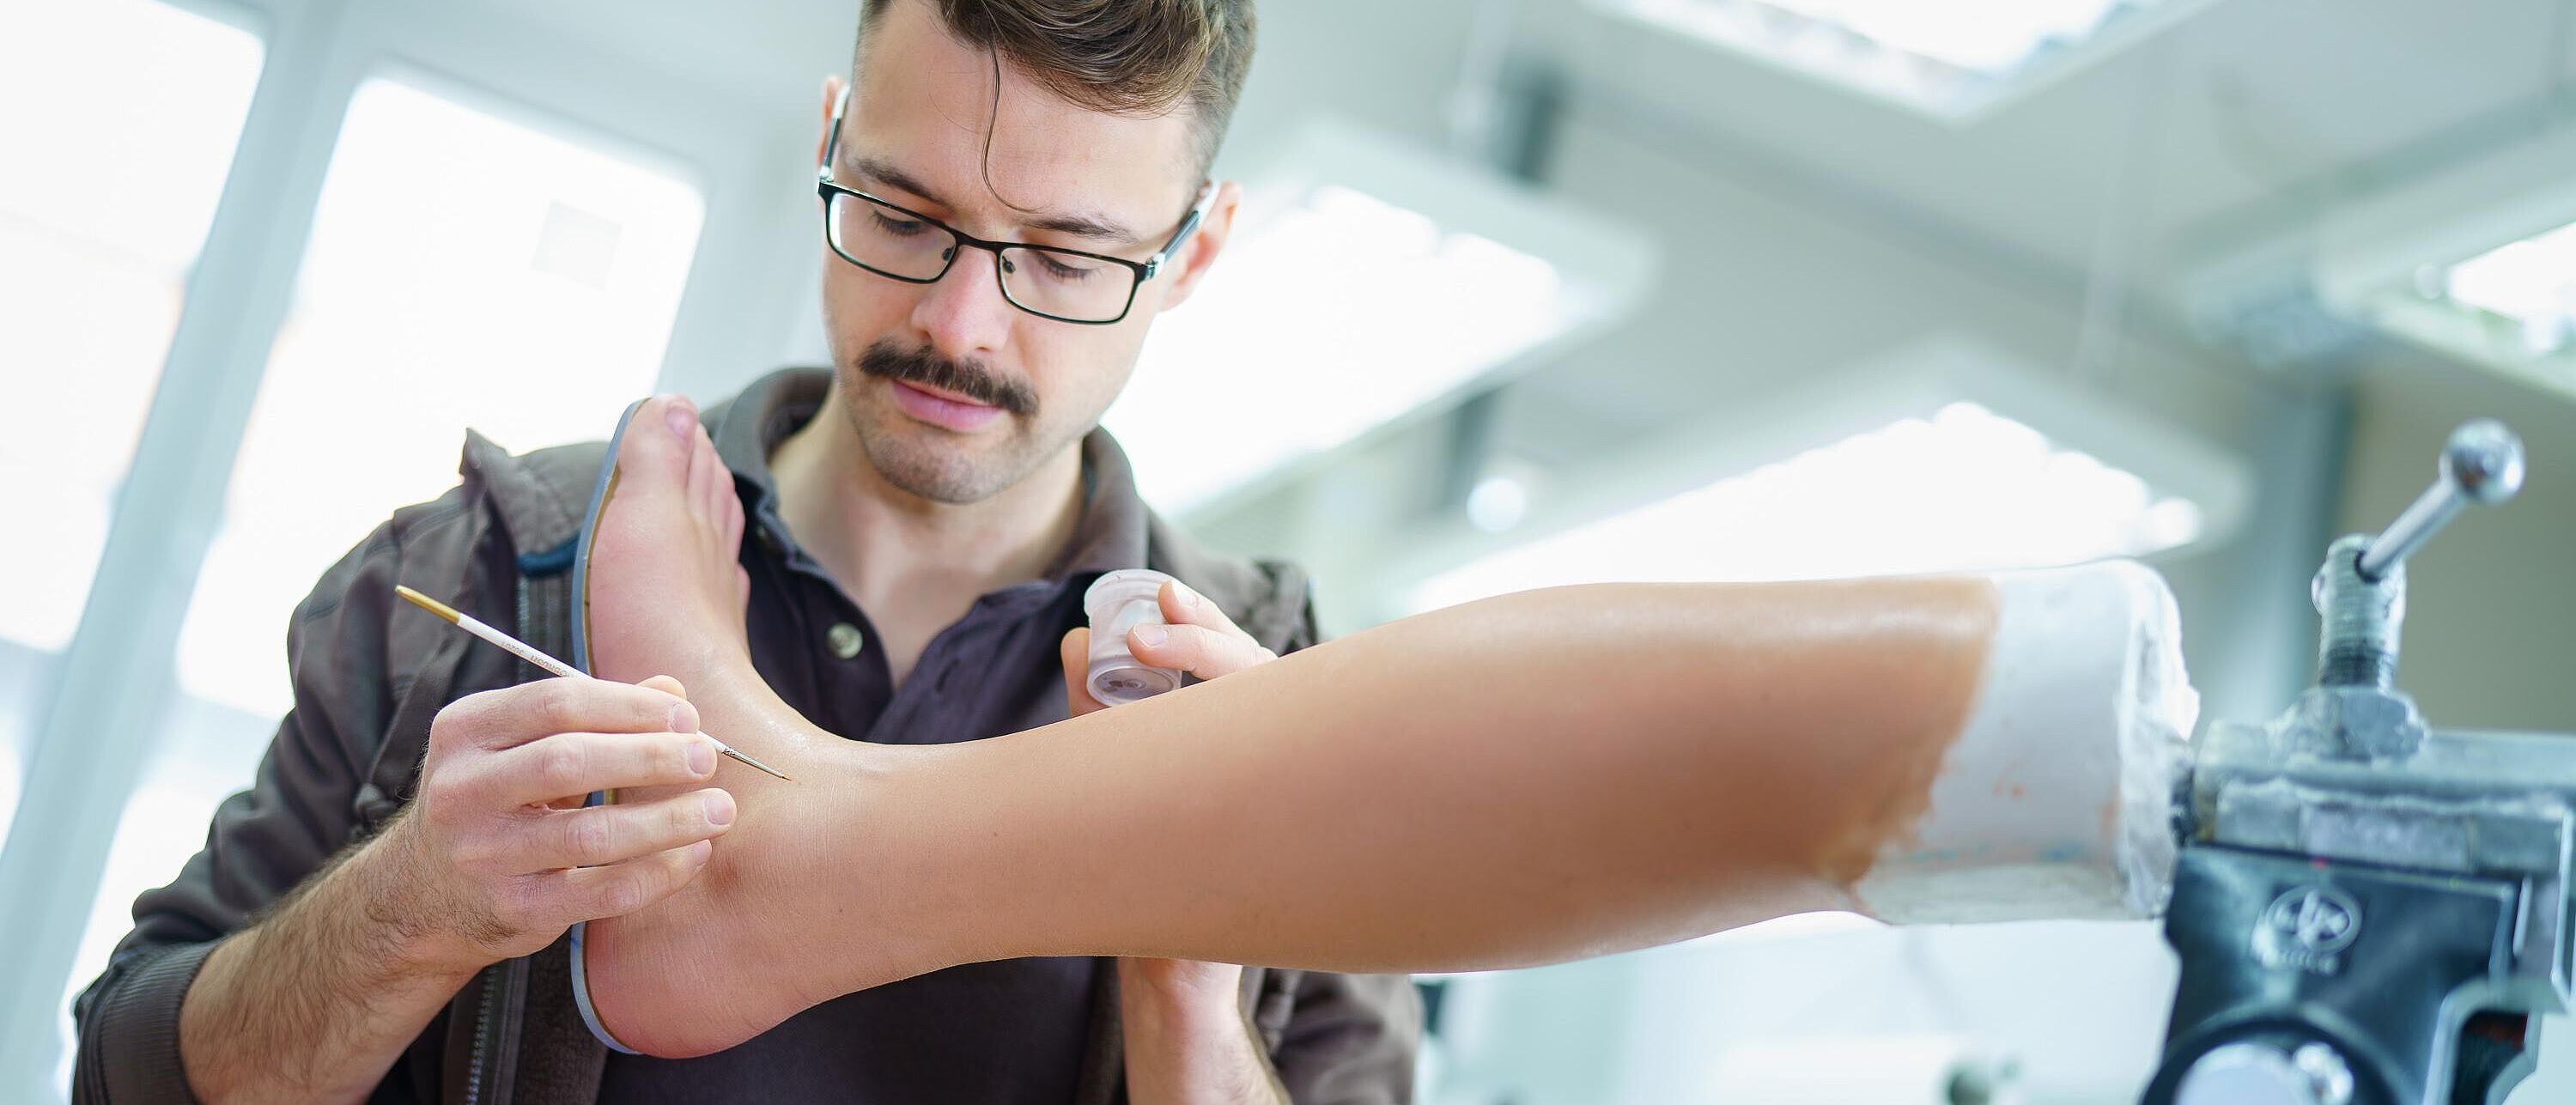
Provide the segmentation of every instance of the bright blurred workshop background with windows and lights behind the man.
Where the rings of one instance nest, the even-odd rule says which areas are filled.
[[[95,865],[85,902],[0,886],[41,920],[13,981],[95,976],[247,783],[289,608],[464,428],[595,438],[822,361],[853,23],[0,3],[0,822]],[[2571,67],[2568,0],[1270,0],[1218,165],[1247,222],[1108,425],[1162,510],[1311,567],[1337,634],[2128,554],[2205,716],[2264,719],[2324,543],[2499,415],[2530,487],[2414,562],[2401,685],[2576,732]],[[75,824],[10,822],[46,734],[149,752],[62,775]],[[2146,922],[1798,917],[1425,979],[1422,1087],[1929,1102],[2012,1069],[2117,1102],[2172,974]],[[62,1005],[8,1025],[0,1097],[62,1092]],[[2545,1041],[2519,1105],[2576,1100],[2576,1025]]]

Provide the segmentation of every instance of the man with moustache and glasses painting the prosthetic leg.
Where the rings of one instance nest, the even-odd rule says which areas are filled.
[[[858,88],[824,85],[817,142],[835,371],[703,415],[747,515],[726,549],[744,641],[817,726],[938,744],[1066,716],[1059,639],[1115,567],[1208,598],[1164,595],[1146,662],[1218,677],[1311,644],[1303,580],[1167,531],[1097,430],[1231,229],[1239,193],[1206,170],[1249,54],[1249,0],[863,5]],[[562,935],[683,886],[732,801],[574,806],[708,775],[685,688],[518,685],[515,659],[392,598],[564,639],[598,456],[471,440],[464,487],[397,513],[299,608],[296,708],[82,994],[77,1097],[1409,1095],[1401,979],[1175,961],[979,963],[716,1056],[608,1056],[572,1017]]]

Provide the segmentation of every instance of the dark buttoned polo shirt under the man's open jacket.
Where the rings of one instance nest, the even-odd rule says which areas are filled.
[[[770,451],[822,410],[827,381],[775,373],[706,412],[747,515],[742,567],[752,577],[760,675],[817,726],[881,744],[948,744],[1061,721],[1056,641],[1084,623],[1082,590],[1146,556],[1146,507],[1126,456],[1095,430],[1082,443],[1082,520],[1056,564],[1043,580],[979,598],[896,685],[868,613],[778,515]],[[1064,1105],[1090,1035],[1097,963],[971,963],[817,1005],[714,1056],[611,1053],[600,1102]]]

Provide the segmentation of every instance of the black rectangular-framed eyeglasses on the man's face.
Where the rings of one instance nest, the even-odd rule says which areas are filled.
[[[1054,245],[989,242],[884,196],[832,183],[840,118],[848,108],[850,90],[842,88],[840,103],[832,108],[832,137],[824,142],[822,170],[814,175],[814,193],[822,196],[824,245],[840,260],[904,283],[938,283],[963,247],[987,250],[994,255],[992,270],[1002,299],[1041,319],[1084,327],[1126,319],[1128,309],[1136,307],[1136,288],[1162,273],[1162,265],[1198,232],[1216,201],[1216,183],[1198,185],[1198,198],[1180,219],[1180,229],[1146,260]]]

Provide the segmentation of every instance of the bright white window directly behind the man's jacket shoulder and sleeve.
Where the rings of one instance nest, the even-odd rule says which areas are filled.
[[[134,896],[178,876],[250,783],[314,580],[453,487],[469,425],[515,451],[605,438],[659,376],[703,214],[698,188],[657,167],[399,80],[358,85],[75,992]]]

